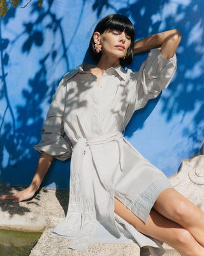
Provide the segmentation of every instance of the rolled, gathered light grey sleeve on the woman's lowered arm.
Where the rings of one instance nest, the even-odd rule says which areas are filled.
[[[43,151],[59,160],[71,157],[71,141],[64,132],[63,117],[66,103],[66,86],[63,78],[47,113],[47,119],[42,128],[43,134],[38,145],[34,146],[39,152]]]

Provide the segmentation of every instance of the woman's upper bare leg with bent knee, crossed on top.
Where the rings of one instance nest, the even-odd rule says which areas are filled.
[[[164,189],[159,194],[154,209],[169,220],[179,223],[204,246],[204,212],[178,191],[173,188]]]

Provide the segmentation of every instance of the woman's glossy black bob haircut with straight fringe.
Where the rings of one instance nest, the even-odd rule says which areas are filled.
[[[112,14],[108,15],[105,18],[101,19],[96,28],[94,29],[94,33],[97,31],[100,34],[103,34],[108,30],[119,30],[121,32],[125,32],[128,36],[131,37],[131,45],[128,48],[126,58],[120,58],[121,65],[129,65],[133,62],[133,47],[134,47],[134,39],[135,39],[135,29],[132,22],[128,19],[128,17],[120,14]],[[94,43],[94,33],[92,34],[91,41],[89,44],[89,54],[91,58],[98,62],[101,58],[101,51],[96,53],[95,43]]]

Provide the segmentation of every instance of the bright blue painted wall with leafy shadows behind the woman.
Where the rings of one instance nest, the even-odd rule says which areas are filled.
[[[27,1],[21,1],[24,5]],[[203,0],[55,0],[10,8],[0,20],[0,181],[27,186],[33,177],[48,106],[64,73],[90,62],[87,47],[98,20],[127,15],[136,39],[177,28],[182,42],[168,89],[137,111],[126,138],[166,175],[198,153],[204,140]],[[147,54],[135,56],[138,70]],[[54,161],[43,186],[68,189],[70,161]]]

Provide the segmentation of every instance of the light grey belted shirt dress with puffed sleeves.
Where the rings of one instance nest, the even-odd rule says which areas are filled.
[[[91,241],[135,241],[141,255],[159,256],[161,242],[144,236],[114,213],[114,196],[146,222],[163,189],[163,172],[145,159],[122,131],[134,111],[157,97],[175,74],[177,60],[149,52],[138,72],[108,68],[98,84],[83,64],[63,78],[44,122],[36,150],[57,159],[71,157],[69,207],[52,234],[73,239],[83,250]]]

